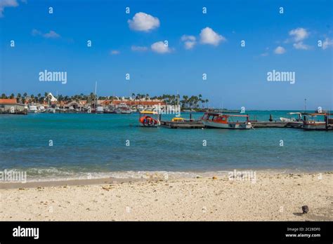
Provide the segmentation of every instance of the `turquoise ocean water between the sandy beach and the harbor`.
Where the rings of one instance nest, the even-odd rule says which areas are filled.
[[[267,121],[269,114],[278,120],[280,116],[287,117],[288,112],[249,111],[248,114]],[[193,116],[200,118],[202,114]],[[138,117],[138,114],[1,115],[0,170],[25,170],[30,181],[87,176],[142,177],[146,171],[181,174],[234,169],[333,170],[332,132],[290,128],[141,128]],[[162,119],[172,117],[163,115]],[[182,117],[188,118],[189,114]]]

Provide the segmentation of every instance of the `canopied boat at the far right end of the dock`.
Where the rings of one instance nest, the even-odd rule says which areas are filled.
[[[333,118],[329,113],[304,114],[303,130],[333,130]],[[320,119],[323,118],[323,119]]]

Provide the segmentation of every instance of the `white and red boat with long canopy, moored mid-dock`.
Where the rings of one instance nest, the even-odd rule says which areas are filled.
[[[240,121],[245,118],[245,121]],[[252,124],[248,121],[248,115],[221,114],[207,112],[201,118],[202,123],[207,128],[238,129],[248,130]]]

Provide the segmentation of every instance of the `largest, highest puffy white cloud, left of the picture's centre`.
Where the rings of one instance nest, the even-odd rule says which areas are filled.
[[[133,20],[127,20],[129,23],[129,28],[140,31],[149,32],[151,29],[159,27],[159,19],[148,15],[147,13],[136,13]]]

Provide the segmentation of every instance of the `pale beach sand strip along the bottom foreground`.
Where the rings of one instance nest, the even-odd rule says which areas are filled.
[[[333,172],[256,172],[256,182],[213,176],[1,183],[0,220],[333,220]]]

